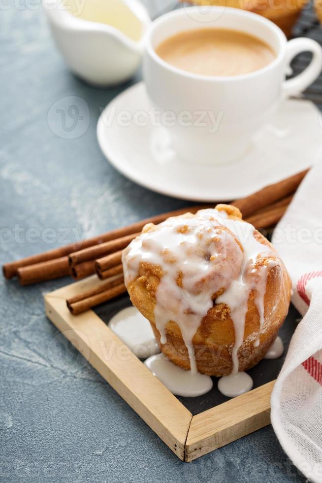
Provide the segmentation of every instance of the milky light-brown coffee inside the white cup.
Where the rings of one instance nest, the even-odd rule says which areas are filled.
[[[156,48],[172,66],[194,74],[233,76],[262,69],[276,57],[259,38],[229,29],[197,29],[168,37]]]

